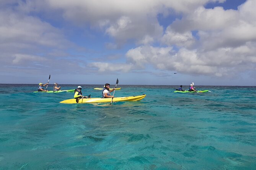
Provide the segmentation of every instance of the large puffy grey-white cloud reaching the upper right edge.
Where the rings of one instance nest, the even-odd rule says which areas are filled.
[[[224,10],[222,7],[205,9],[199,6],[181,20],[174,21],[171,28],[176,32],[198,30],[199,43],[205,50],[238,47],[256,40],[256,14],[251,8],[254,4],[255,1],[248,0],[238,10]],[[168,30],[166,32],[168,35]]]

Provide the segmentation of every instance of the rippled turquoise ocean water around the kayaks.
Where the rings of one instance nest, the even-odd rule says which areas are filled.
[[[81,86],[83,95],[101,96],[93,88],[102,85]],[[196,86],[206,93],[117,87],[116,97],[147,96],[113,105],[62,104],[73,93],[0,84],[0,170],[256,169],[256,87]]]

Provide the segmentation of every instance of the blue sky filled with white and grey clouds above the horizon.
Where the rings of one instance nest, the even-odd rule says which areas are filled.
[[[0,83],[256,86],[255,6],[0,0]]]

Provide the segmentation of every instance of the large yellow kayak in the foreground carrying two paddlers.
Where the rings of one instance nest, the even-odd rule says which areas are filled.
[[[113,98],[113,102],[117,101],[139,101],[143,98],[145,98],[146,95],[141,95],[141,96],[128,96],[128,97],[116,97]],[[78,101],[78,103],[110,103],[112,98],[82,98]],[[64,101],[61,101],[60,103],[67,103],[67,104],[72,104],[72,103],[77,103],[76,99],[67,99]]]

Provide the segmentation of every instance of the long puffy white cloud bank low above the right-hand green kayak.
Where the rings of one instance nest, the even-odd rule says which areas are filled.
[[[137,68],[151,64],[160,70],[222,77],[233,76],[236,72],[246,71],[248,69],[246,65],[250,65],[251,62],[254,62],[255,65],[256,58],[252,54],[253,51],[255,51],[254,44],[238,48],[219,48],[217,51],[181,48],[177,53],[174,53],[170,47],[143,46],[129,50],[126,56]]]

